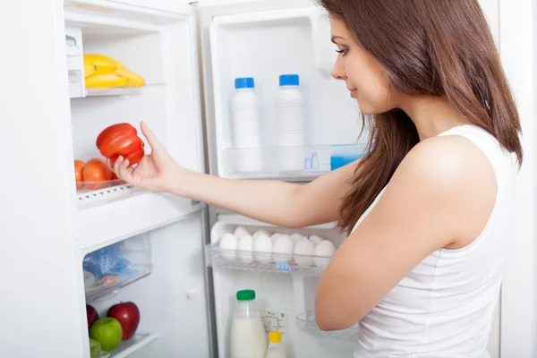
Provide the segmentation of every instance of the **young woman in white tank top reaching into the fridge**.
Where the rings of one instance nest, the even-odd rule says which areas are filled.
[[[522,163],[520,124],[477,0],[320,0],[333,77],[371,119],[371,148],[306,185],[236,181],[153,152],[117,175],[276,226],[348,238],[316,294],[324,330],[359,322],[355,357],[488,357]],[[255,199],[254,199],[255,198]],[[319,205],[323,203],[323,205]]]

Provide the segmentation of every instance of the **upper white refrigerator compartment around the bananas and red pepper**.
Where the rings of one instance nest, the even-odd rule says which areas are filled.
[[[119,123],[137,128],[145,152],[149,154],[149,145],[141,135],[140,122],[143,120],[178,163],[194,171],[204,171],[192,8],[183,6],[184,13],[158,13],[143,7],[127,6],[125,10],[124,5],[108,5],[107,16],[85,10],[85,7],[84,10],[74,5],[66,8],[74,158],[82,161],[103,158],[95,143],[97,136],[107,126]],[[76,38],[79,53],[69,46],[69,35],[72,34],[80,37]],[[91,89],[84,88],[81,83],[81,90],[77,91],[78,82],[72,81],[71,67],[81,61],[81,54],[112,57],[139,74],[145,85],[141,88]],[[85,197],[81,199],[88,199],[90,195],[87,194],[95,192],[94,189],[83,187],[78,193]],[[99,194],[101,200],[114,196],[113,192]],[[101,203],[99,200],[81,200],[80,209]]]

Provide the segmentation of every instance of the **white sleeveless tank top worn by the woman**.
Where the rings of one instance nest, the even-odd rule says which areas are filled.
[[[498,187],[494,208],[473,243],[430,253],[360,321],[354,358],[490,357],[487,344],[514,209],[516,157],[479,127],[462,125],[439,135],[463,136],[490,160]]]

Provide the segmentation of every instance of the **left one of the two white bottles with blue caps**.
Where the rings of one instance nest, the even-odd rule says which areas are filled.
[[[261,158],[260,113],[253,78],[235,79],[232,99],[234,167],[241,173],[263,168]]]

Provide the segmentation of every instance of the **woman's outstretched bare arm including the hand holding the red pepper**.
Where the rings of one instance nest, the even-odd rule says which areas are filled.
[[[120,179],[137,188],[173,192],[275,226],[304,227],[336,221],[358,164],[356,161],[305,185],[223,179],[179,166],[143,122],[141,132],[152,151],[135,167],[123,157],[117,158],[114,170]]]

